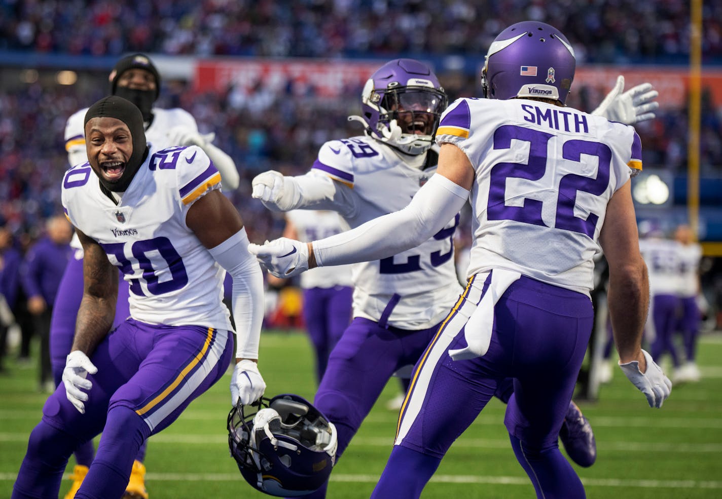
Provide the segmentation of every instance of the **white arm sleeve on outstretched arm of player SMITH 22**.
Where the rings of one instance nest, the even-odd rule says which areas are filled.
[[[469,200],[469,191],[432,175],[409,206],[355,229],[313,242],[319,267],[370,262],[417,247],[444,228]]]

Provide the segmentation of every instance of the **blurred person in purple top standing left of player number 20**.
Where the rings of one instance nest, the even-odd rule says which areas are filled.
[[[72,228],[64,216],[48,218],[47,234],[27,250],[20,270],[27,296],[27,309],[35,317],[35,332],[40,336],[40,389],[55,389],[50,363],[50,319],[52,306],[65,266],[71,255]]]

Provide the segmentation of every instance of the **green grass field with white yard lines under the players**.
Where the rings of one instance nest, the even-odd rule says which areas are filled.
[[[580,403],[596,433],[599,453],[593,467],[578,469],[588,498],[722,498],[722,335],[703,337],[699,350],[702,381],[674,387],[661,410],[650,409],[619,369],[612,384],[601,388],[599,402]],[[0,499],[10,497],[27,436],[46,397],[37,392],[35,368],[19,368],[12,359],[7,365],[9,374],[0,377]],[[312,361],[303,334],[265,332],[261,371],[267,394],[295,392],[313,399]],[[229,381],[226,374],[168,430],[150,439],[150,499],[269,497],[246,484],[230,458],[225,428]],[[396,428],[396,412],[385,405],[398,391],[398,381],[392,379],[336,465],[329,498],[370,495]],[[452,446],[423,498],[534,497],[509,445],[504,408],[492,399]],[[64,480],[61,497],[69,486]]]

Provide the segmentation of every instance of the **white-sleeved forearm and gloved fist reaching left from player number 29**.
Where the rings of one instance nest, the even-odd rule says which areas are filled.
[[[295,177],[269,170],[253,177],[252,185],[253,198],[271,211],[331,210],[349,218],[358,209],[351,187],[313,169]]]

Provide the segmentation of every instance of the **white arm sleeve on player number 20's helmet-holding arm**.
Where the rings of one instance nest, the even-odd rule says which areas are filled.
[[[264,320],[264,276],[256,258],[248,252],[245,229],[240,229],[209,252],[233,278],[235,356],[256,359]]]

